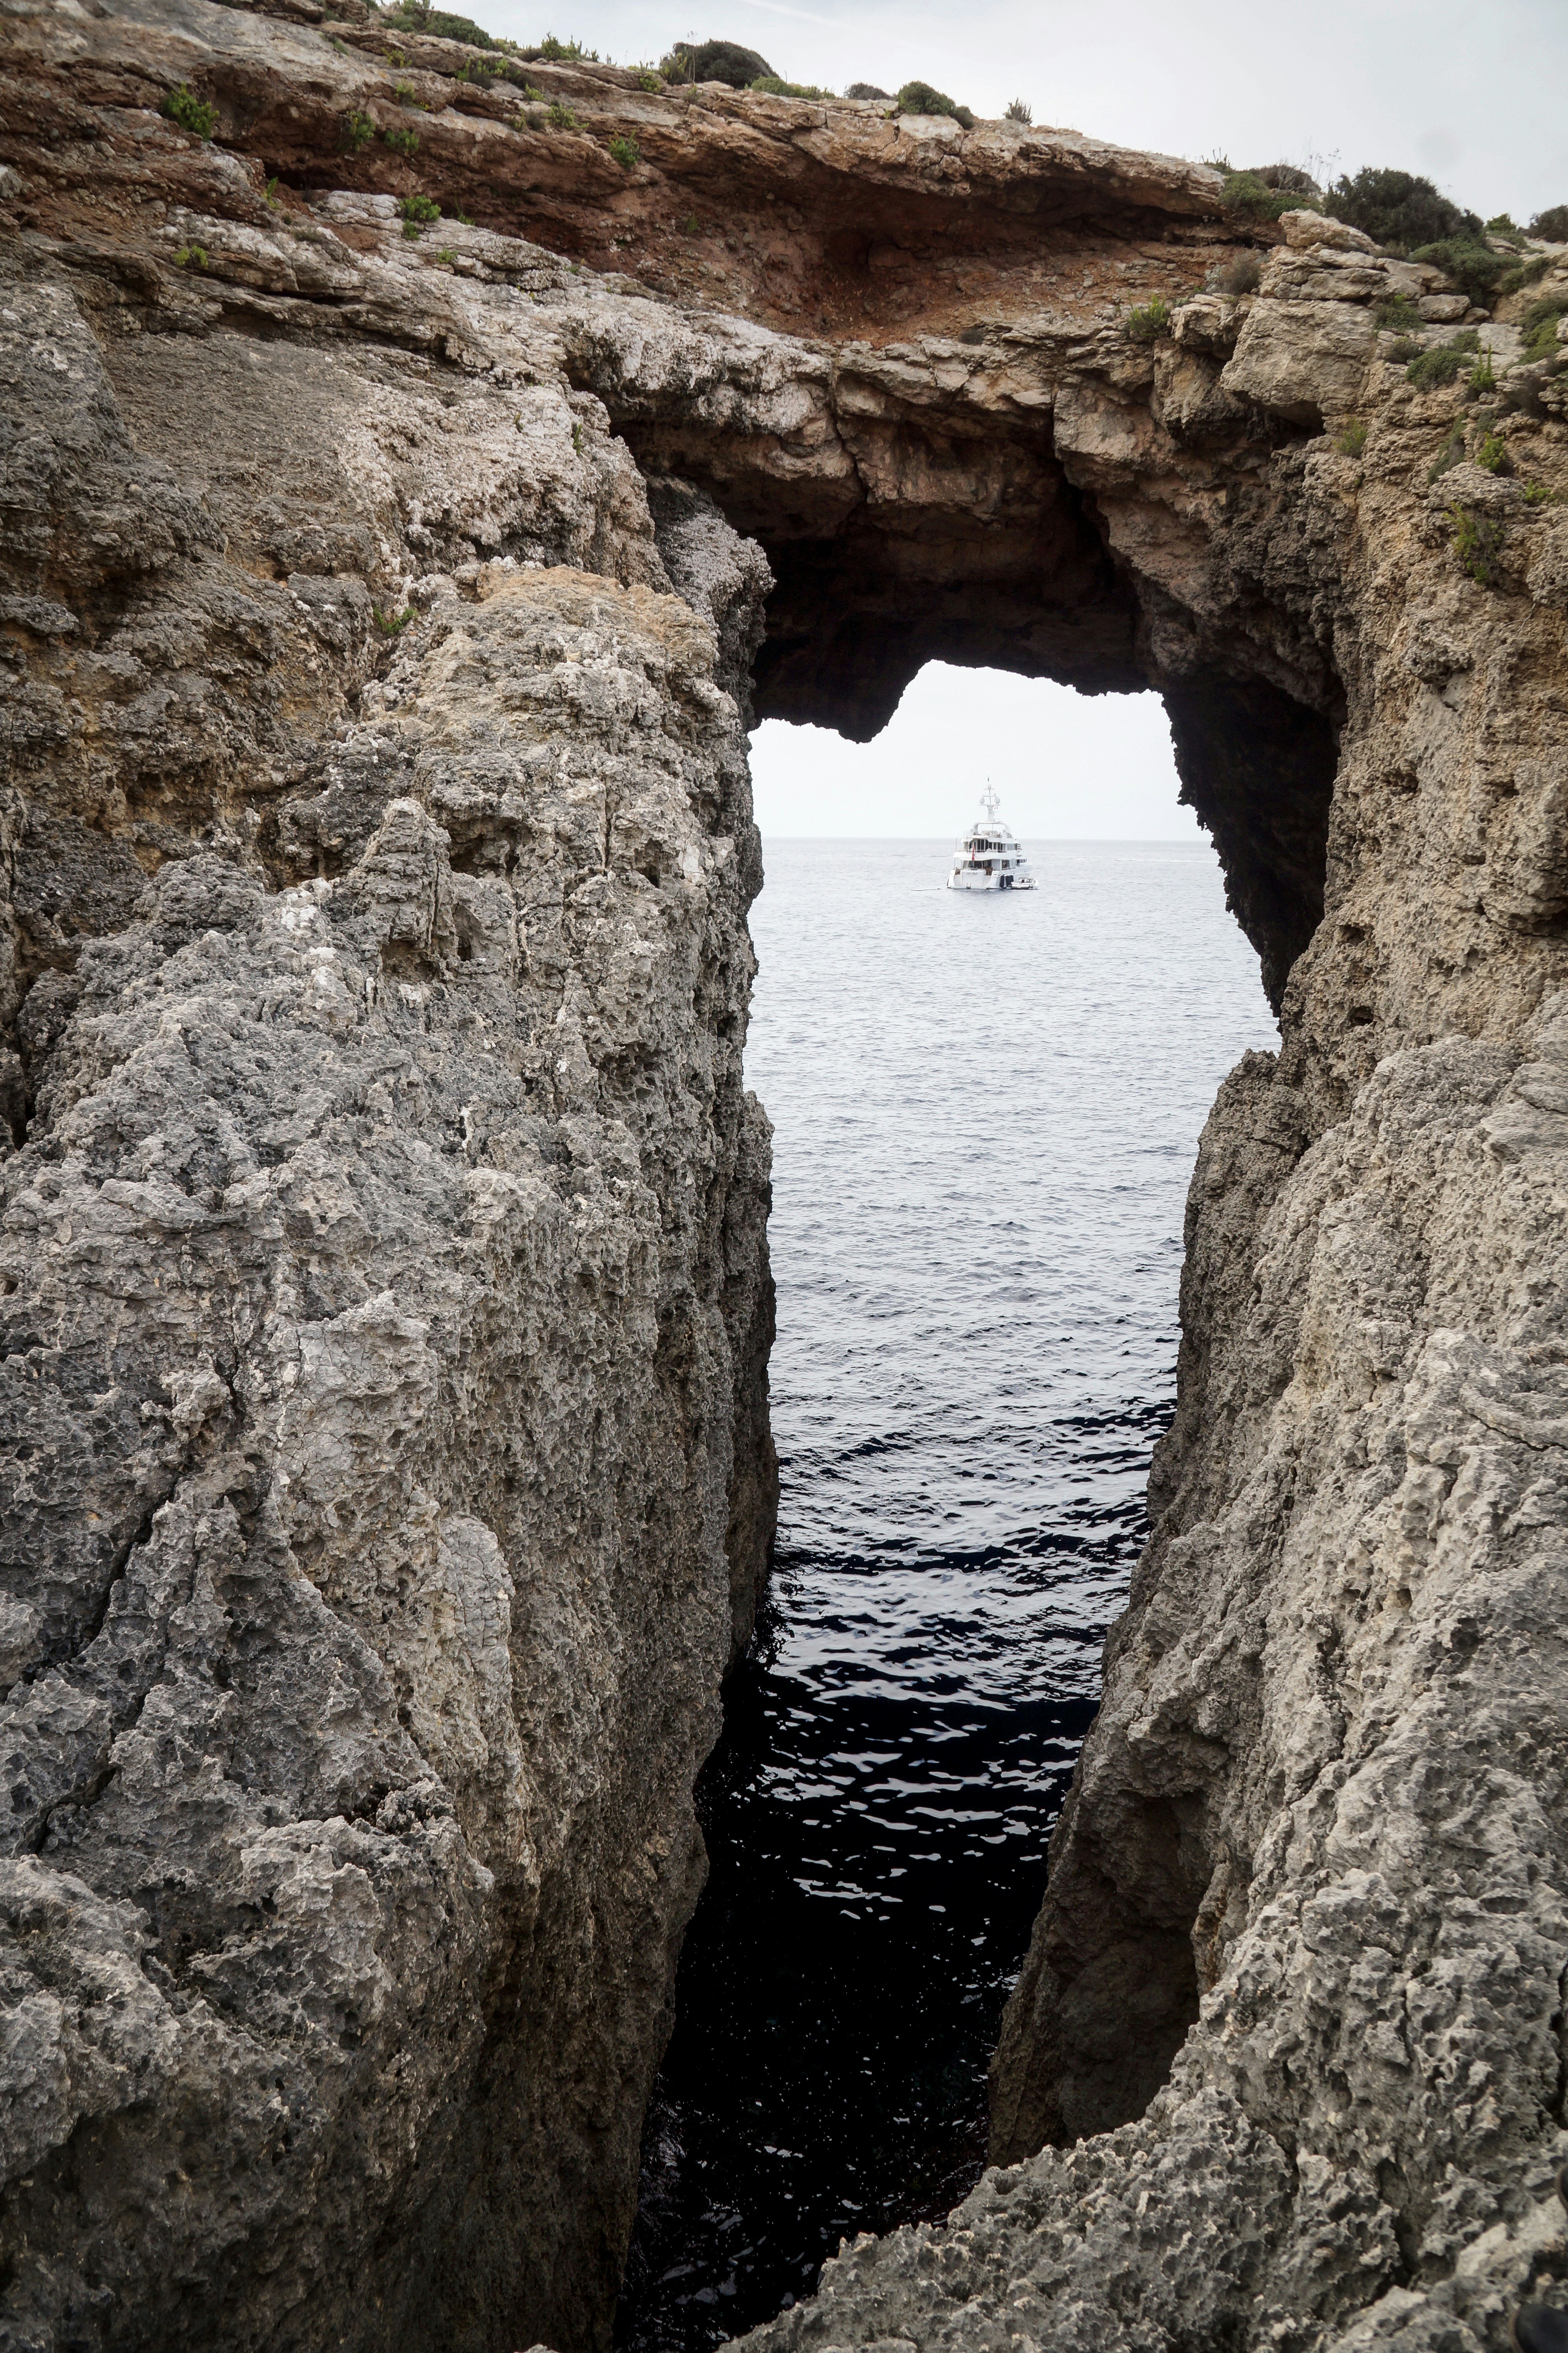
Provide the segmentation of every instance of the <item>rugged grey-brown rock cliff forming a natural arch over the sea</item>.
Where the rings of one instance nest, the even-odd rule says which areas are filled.
[[[748,673],[867,734],[945,654],[1164,692],[1284,1052],[1009,2169],[762,2334],[1500,2344],[1568,2146],[1563,379],[1486,329],[1493,473],[1378,329],[1434,273],[1070,132],[9,26],[9,2341],[602,2337],[771,1513]]]

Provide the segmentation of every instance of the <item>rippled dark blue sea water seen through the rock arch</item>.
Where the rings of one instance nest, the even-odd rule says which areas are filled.
[[[1187,1176],[1276,1033],[1208,847],[769,842],[778,1565],[618,2339],[705,2353],[976,2179],[985,2061],[1175,1388]]]

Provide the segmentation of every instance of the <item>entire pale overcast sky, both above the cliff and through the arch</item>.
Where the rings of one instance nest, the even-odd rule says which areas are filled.
[[[1458,202],[1523,221],[1568,202],[1563,0],[454,0],[494,33],[581,40],[616,64],[672,42],[743,40],[795,82],[898,89],[919,75],[980,115],[1023,96],[1037,122],[1166,155],[1427,172]],[[764,833],[950,835],[985,772],[1027,840],[1194,838],[1154,696],[1084,699],[994,671],[929,668],[872,746],[766,725]]]

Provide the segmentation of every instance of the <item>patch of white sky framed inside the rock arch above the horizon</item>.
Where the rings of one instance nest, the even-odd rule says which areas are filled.
[[[1030,842],[1192,842],[1157,694],[1074,694],[1044,678],[931,661],[875,744],[764,720],[752,795],[780,833],[954,840],[987,779]]]

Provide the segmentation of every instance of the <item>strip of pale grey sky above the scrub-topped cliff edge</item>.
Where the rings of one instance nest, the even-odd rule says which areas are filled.
[[[1023,96],[1056,122],[1166,155],[1401,165],[1490,216],[1568,205],[1561,0],[451,0],[512,40],[616,64],[675,40],[762,49],[792,82],[936,82],[980,115]],[[552,12],[552,21],[541,16]]]

